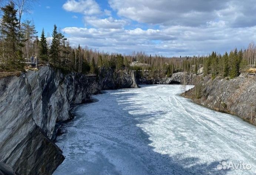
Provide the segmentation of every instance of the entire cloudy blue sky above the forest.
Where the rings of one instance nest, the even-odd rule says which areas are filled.
[[[255,0],[38,0],[23,20],[72,45],[163,56],[223,54],[256,41]]]

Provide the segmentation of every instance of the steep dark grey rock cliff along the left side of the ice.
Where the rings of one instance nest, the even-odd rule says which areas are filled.
[[[52,174],[64,160],[52,141],[54,127],[71,119],[72,104],[88,101],[102,88],[137,87],[133,71],[109,74],[87,77],[42,66],[1,78],[0,162],[21,175]]]

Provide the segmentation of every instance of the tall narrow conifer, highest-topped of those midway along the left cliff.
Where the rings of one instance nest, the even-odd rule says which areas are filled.
[[[51,41],[51,48],[50,48],[51,62],[53,63],[54,66],[56,66],[57,60],[59,60],[60,43],[58,40],[57,26],[55,24],[54,24],[52,37],[53,37],[53,39]]]

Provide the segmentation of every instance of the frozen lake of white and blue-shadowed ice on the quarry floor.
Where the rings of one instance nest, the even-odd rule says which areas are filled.
[[[55,175],[256,174],[255,126],[180,97],[179,85],[105,92],[62,127]]]

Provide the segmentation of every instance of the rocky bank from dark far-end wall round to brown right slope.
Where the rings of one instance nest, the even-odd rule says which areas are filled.
[[[202,67],[203,69],[203,67]],[[239,77],[229,78],[211,75],[203,76],[200,69],[198,74],[187,72],[174,73],[171,77],[149,76],[144,72],[143,77],[137,78],[139,84],[200,84],[200,95],[195,97],[194,87],[184,94],[183,97],[191,98],[193,102],[213,109],[215,111],[230,113],[256,125],[256,77],[243,73]],[[197,89],[196,89],[197,88]],[[198,92],[197,92],[198,93]]]

